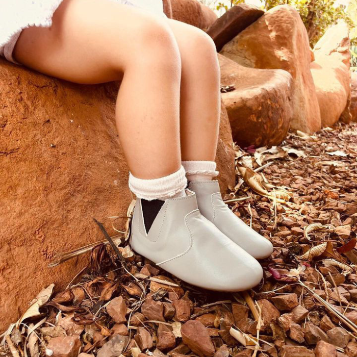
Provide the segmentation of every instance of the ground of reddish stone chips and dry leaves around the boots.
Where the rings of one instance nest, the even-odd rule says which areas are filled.
[[[274,245],[258,287],[203,291],[124,239],[99,244],[68,289],[49,286],[10,326],[0,355],[356,356],[356,159],[357,124],[236,147],[237,186],[224,198]]]

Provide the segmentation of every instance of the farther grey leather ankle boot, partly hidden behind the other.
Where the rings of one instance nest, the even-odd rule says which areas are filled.
[[[240,220],[223,202],[218,181],[190,182],[188,188],[196,193],[201,214],[228,238],[256,259],[270,256],[273,245]]]

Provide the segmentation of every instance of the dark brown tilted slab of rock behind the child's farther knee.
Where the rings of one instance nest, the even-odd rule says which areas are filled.
[[[223,45],[231,41],[263,14],[264,11],[256,6],[238,4],[228,9],[213,22],[206,32],[212,37],[217,51],[220,51]]]

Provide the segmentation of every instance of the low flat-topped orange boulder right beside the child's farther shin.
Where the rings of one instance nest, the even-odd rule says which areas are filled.
[[[242,146],[277,145],[284,140],[292,117],[292,78],[278,69],[243,67],[218,54],[222,93],[234,141]]]

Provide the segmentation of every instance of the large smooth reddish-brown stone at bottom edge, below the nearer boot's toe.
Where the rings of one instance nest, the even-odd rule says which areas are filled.
[[[181,327],[182,341],[201,357],[209,357],[215,348],[205,326],[199,321],[190,320]]]

